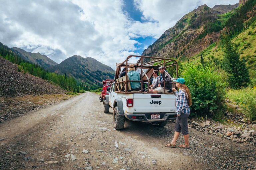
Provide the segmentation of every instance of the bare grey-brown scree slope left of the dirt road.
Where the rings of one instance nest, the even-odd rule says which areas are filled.
[[[31,74],[18,72],[18,66],[0,57],[0,97],[25,95],[61,94],[60,87]]]

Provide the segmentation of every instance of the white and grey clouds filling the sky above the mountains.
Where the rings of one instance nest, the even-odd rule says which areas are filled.
[[[0,0],[0,41],[40,52],[58,63],[81,55],[115,68],[128,55],[139,55],[133,51],[140,43],[133,39],[157,39],[198,5],[237,1],[134,0],[143,14],[139,22],[123,11],[122,0]]]

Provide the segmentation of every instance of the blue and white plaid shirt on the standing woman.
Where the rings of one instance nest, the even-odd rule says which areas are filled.
[[[183,112],[184,114],[190,114],[190,109],[188,106],[187,95],[185,91],[179,90],[175,92],[176,97],[176,112],[178,115]]]

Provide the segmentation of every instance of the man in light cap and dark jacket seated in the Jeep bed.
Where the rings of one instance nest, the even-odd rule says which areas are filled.
[[[163,93],[164,92],[164,66],[158,68],[160,75],[158,76],[157,82],[149,90],[149,93]],[[165,89],[169,90],[171,88],[171,79],[168,75],[165,74]]]

